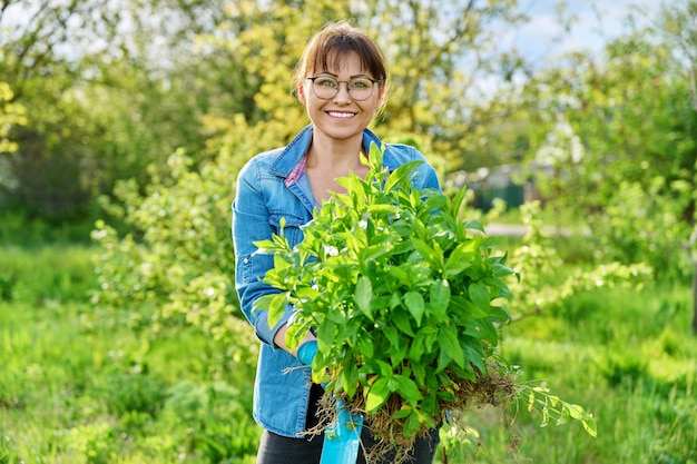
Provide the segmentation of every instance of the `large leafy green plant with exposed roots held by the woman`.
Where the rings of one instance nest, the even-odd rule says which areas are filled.
[[[448,411],[499,405],[521,392],[541,404],[543,424],[558,414],[582,418],[595,433],[580,406],[517,386],[498,355],[499,325],[510,318],[507,280],[516,272],[494,254],[500,238],[459,218],[464,191],[451,199],[415,189],[420,161],[390,172],[382,156],[371,146],[366,178],[337,180],[346,192],[322,206],[296,247],[283,233],[256,244],[274,255],[264,282],[279,292],[255,309],[267,309],[274,325],[293,305],[288,345],[311,329],[317,337],[313,379],[370,414],[392,444],[409,446]]]

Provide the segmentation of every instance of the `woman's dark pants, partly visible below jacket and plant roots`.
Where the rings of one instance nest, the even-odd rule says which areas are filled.
[[[316,402],[322,396],[322,389],[313,388],[311,394],[311,409],[310,419],[307,426],[312,427],[317,423],[316,418]],[[370,450],[375,441],[369,431],[369,427],[363,427],[361,434],[361,442],[363,446]],[[264,431],[262,434],[262,441],[259,443],[259,450],[256,456],[256,464],[320,464],[322,456],[322,445],[324,443],[324,435],[308,436],[307,438],[288,438],[285,436],[276,435],[272,432]],[[435,454],[435,446],[439,443],[438,430],[432,430],[429,435],[423,438],[418,438],[414,444],[414,448],[410,454],[411,460],[408,460],[409,464],[432,464],[433,455]],[[362,447],[363,447],[362,446]],[[386,455],[381,460],[381,464],[389,464],[394,461],[394,456]],[[359,452],[357,464],[365,464],[365,456],[363,450]]]

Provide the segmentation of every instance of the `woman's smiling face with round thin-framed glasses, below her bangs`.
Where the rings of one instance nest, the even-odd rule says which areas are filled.
[[[335,60],[327,60],[330,63]],[[362,139],[363,129],[373,119],[380,107],[383,91],[382,86],[374,83],[372,95],[362,101],[356,101],[348,92],[347,81],[357,77],[374,79],[361,67],[361,59],[355,51],[348,52],[341,60],[338,69],[315,70],[314,77],[328,77],[340,81],[338,91],[328,100],[321,99],[313,91],[313,81],[305,79],[298,88],[298,99],[307,108],[307,115],[315,127],[315,134],[327,136],[336,140],[351,138]],[[322,80],[317,79],[321,83]],[[316,134],[320,135],[320,134]]]

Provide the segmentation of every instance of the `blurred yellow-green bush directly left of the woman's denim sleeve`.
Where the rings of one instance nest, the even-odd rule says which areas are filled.
[[[196,171],[192,158],[178,151],[168,165],[170,178],[155,176],[147,195],[124,181],[116,192],[125,206],[106,204],[131,233],[119,237],[114,227],[97,223],[98,285],[91,302],[115,312],[155,307],[145,322],[151,335],[192,324],[227,346],[238,344],[251,359],[256,344],[242,322],[232,282],[230,179],[237,162],[222,154]]]

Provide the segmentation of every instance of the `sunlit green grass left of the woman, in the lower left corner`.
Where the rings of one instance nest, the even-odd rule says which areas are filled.
[[[0,251],[0,463],[251,463],[251,378],[202,333],[99,313],[88,247]]]

